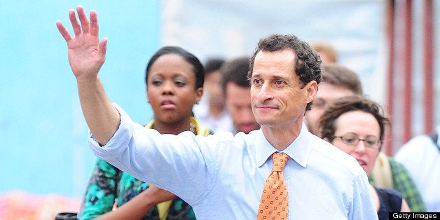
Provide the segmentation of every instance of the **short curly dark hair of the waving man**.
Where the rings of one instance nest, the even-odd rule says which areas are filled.
[[[261,39],[256,46],[254,54],[249,63],[248,78],[251,78],[254,71],[254,61],[256,54],[260,51],[279,51],[284,49],[294,50],[295,57],[295,74],[299,76],[301,86],[304,87],[310,81],[321,82],[321,59],[319,55],[310,48],[308,43],[301,41],[294,35],[272,34]],[[308,103],[305,110],[310,110],[312,102]]]

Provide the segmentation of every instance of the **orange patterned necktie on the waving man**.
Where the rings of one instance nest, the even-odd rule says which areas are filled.
[[[256,219],[284,219],[287,220],[289,211],[289,198],[287,186],[284,182],[282,168],[287,163],[289,156],[285,153],[273,153],[273,168],[263,188],[259,212]]]

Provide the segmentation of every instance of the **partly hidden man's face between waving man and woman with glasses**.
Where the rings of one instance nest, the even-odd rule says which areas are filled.
[[[312,134],[318,135],[318,123],[319,118],[321,118],[322,114],[326,106],[329,102],[333,102],[334,100],[345,97],[348,95],[355,95],[352,90],[348,88],[341,87],[338,85],[331,85],[330,83],[319,83],[319,89],[317,95],[315,97],[315,101],[313,102],[312,109],[305,113],[304,122],[307,125],[308,130],[312,132]]]

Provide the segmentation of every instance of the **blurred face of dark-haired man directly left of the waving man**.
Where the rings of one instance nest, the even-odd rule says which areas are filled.
[[[258,130],[251,108],[251,93],[248,87],[241,87],[235,83],[226,84],[226,109],[233,119],[234,129],[246,134]]]

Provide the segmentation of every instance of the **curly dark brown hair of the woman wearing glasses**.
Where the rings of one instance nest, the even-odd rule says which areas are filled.
[[[319,119],[319,137],[323,139],[326,138],[329,142],[333,142],[336,132],[336,119],[350,111],[364,111],[373,115],[380,127],[379,141],[383,142],[385,126],[391,126],[390,119],[385,116],[385,112],[380,104],[361,95],[341,97],[331,102]]]

